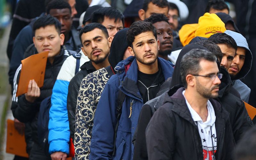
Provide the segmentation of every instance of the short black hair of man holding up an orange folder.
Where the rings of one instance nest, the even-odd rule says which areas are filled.
[[[51,15],[42,15],[38,17],[35,23],[33,24],[33,31],[35,33],[37,29],[41,27],[44,28],[48,25],[54,25],[56,28],[56,31],[60,34],[60,31],[61,31],[60,21],[57,18],[52,17]]]

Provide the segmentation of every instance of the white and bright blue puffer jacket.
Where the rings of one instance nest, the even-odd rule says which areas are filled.
[[[82,51],[80,66],[89,61]],[[75,76],[76,59],[69,56],[61,66],[57,80],[52,89],[52,106],[49,112],[49,153],[64,152],[69,154],[69,123],[67,111],[67,95],[69,81]],[[80,70],[80,68],[79,68]]]

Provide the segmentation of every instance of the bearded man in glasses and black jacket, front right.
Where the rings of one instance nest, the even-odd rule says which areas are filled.
[[[192,49],[180,65],[184,87],[164,93],[146,129],[149,160],[232,159],[235,147],[228,112],[218,97],[222,74],[216,56]],[[186,154],[184,154],[186,153]]]

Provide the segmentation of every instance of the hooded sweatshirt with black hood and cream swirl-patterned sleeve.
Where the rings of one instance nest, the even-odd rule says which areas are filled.
[[[89,159],[94,114],[106,83],[109,78],[115,74],[115,66],[119,61],[123,60],[124,51],[128,47],[126,40],[127,31],[128,28],[124,28],[118,31],[113,38],[108,56],[110,67],[101,68],[88,74],[86,77],[84,76],[82,82],[81,79],[79,80],[79,82],[81,82],[80,88],[76,84],[79,90],[77,90],[78,92],[76,91],[76,93],[78,93],[77,106],[68,106],[70,111],[76,113],[76,119],[72,116],[73,118],[71,118],[73,120],[69,123],[70,129],[73,129],[71,132],[75,133],[74,146],[76,159]],[[79,72],[77,74],[79,74]],[[76,78],[76,76],[74,78]],[[73,79],[70,81],[70,84]],[[72,88],[70,84],[68,91]],[[74,92],[69,93],[74,94]]]

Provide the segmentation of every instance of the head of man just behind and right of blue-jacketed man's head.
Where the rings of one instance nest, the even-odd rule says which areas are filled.
[[[160,43],[159,55],[165,60],[168,60],[168,54],[172,52],[172,28],[168,24],[168,18],[164,14],[153,14],[145,19],[146,22],[151,22],[156,27],[157,39]]]

